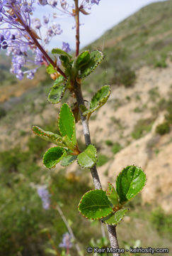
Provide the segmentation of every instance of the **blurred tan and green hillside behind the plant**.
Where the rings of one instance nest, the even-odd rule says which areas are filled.
[[[103,189],[127,164],[141,166],[147,174],[147,185],[117,226],[120,247],[134,246],[137,240],[142,247],[172,251],[171,13],[172,1],[150,4],[86,47],[103,50],[105,59],[84,81],[84,99],[89,101],[105,84],[112,90],[90,120]],[[8,71],[11,59],[0,54],[0,256],[52,255],[46,252],[53,249],[52,240],[61,252],[67,228],[56,202],[85,251],[91,238],[96,242],[102,236],[100,223],[85,220],[77,211],[81,196],[93,188],[91,175],[77,164],[45,169],[42,156],[52,145],[31,132],[33,124],[57,132],[60,104],[47,102],[53,81],[43,67],[35,79],[18,81]],[[65,100],[69,102],[67,94]],[[80,123],[77,132],[84,149]],[[52,193],[48,210],[37,193],[45,184]],[[44,228],[47,233],[41,232]],[[77,255],[75,247],[70,253]]]

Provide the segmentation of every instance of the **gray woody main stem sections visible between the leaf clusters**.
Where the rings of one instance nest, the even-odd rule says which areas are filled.
[[[76,95],[77,104],[79,106],[84,105],[84,98],[83,98],[83,95],[81,92],[81,85],[78,82],[75,82],[75,84],[74,84],[74,93]],[[81,112],[81,108],[79,108],[79,112],[80,112],[80,116],[81,116],[83,130],[84,130],[86,146],[88,146],[89,144],[91,144],[91,137],[90,137],[89,127],[88,127],[88,121],[87,121],[86,117],[83,116],[83,114]],[[101,181],[98,176],[98,171],[96,169],[96,165],[93,166],[93,168],[91,168],[91,175],[93,178],[93,184],[94,184],[95,188],[101,189],[102,188]],[[116,226],[107,225],[107,228],[108,228],[108,235],[109,235],[111,247],[118,249],[119,245],[117,242]],[[120,253],[118,253],[118,252],[113,253],[113,256],[120,256]]]

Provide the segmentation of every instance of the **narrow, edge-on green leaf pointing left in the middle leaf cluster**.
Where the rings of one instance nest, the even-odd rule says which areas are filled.
[[[54,134],[53,132],[47,132],[41,129],[40,127],[33,126],[32,127],[33,132],[42,137],[42,139],[47,140],[48,142],[52,142],[56,144],[57,146],[61,146],[66,148],[67,146],[63,143],[63,138],[59,136],[59,134]]]

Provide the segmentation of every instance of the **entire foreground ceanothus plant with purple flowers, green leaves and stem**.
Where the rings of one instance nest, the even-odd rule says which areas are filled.
[[[12,55],[11,73],[16,78],[33,79],[35,72],[45,65],[46,72],[54,80],[54,85],[47,95],[48,102],[54,104],[62,100],[68,90],[74,98],[74,105],[62,104],[57,119],[58,133],[45,131],[33,126],[33,132],[55,144],[48,149],[43,156],[43,164],[47,169],[55,168],[60,163],[69,166],[74,161],[82,168],[91,170],[91,176],[95,190],[84,194],[79,202],[79,212],[85,218],[101,220],[108,227],[110,245],[118,248],[115,226],[127,213],[126,203],[142,190],[146,182],[144,171],[137,166],[127,166],[117,176],[115,186],[108,183],[107,191],[103,191],[101,181],[96,169],[97,149],[91,144],[88,121],[91,114],[103,107],[110,96],[110,85],[102,87],[95,92],[89,106],[86,107],[82,95],[82,82],[98,67],[103,60],[101,50],[84,50],[79,53],[79,17],[80,14],[88,15],[93,5],[98,5],[100,0],[74,0],[69,1],[41,0],[37,1],[41,6],[52,6],[55,11],[62,11],[67,16],[74,17],[76,26],[76,50],[75,56],[70,55],[69,43],[63,42],[62,48],[53,48],[51,55],[45,47],[54,36],[62,33],[62,28],[57,23],[50,24],[50,16],[31,18],[34,12],[33,0],[0,0],[0,25],[4,26],[0,33],[0,49],[5,49],[8,55]],[[52,17],[55,17],[55,13]],[[44,29],[44,33],[41,33]],[[33,54],[30,55],[30,52]],[[33,58],[34,56],[34,58]],[[32,63],[32,68],[28,66]],[[76,139],[76,122],[81,119],[86,147],[84,151],[79,149]],[[115,174],[114,170],[114,174]],[[67,252],[68,253],[68,252]],[[115,255],[120,255],[118,252]]]

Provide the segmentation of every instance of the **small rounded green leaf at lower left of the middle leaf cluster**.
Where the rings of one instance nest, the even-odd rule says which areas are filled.
[[[67,151],[59,146],[52,147],[47,150],[43,156],[43,164],[45,167],[51,169],[59,163],[64,156],[67,155]]]

